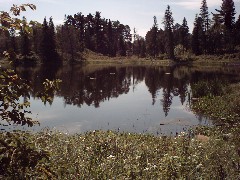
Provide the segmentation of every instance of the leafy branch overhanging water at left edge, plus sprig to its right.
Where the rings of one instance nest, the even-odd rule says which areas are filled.
[[[46,102],[52,103],[54,93],[59,89],[60,80],[49,81],[46,80],[44,84],[44,90],[37,93],[37,97],[40,98],[44,104]],[[31,87],[27,82],[12,70],[0,69],[0,116],[3,121],[11,122],[15,124],[33,126],[36,121],[32,118],[26,117],[31,111],[25,110],[30,107],[30,92]],[[23,103],[20,102],[20,98],[25,97]]]

